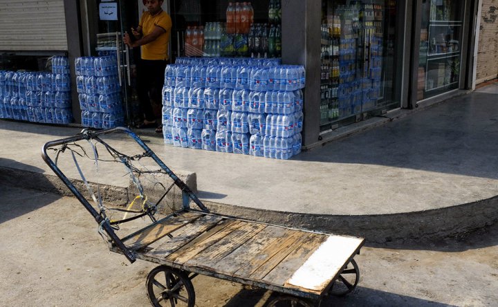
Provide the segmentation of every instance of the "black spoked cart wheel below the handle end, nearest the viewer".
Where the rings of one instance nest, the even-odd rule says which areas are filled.
[[[152,306],[194,307],[195,292],[185,272],[158,266],[147,275],[147,295]]]

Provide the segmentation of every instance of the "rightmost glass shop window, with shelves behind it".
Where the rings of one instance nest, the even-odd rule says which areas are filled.
[[[459,87],[464,2],[422,3],[417,100]]]

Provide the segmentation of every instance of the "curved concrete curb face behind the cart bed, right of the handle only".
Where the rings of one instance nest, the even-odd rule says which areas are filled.
[[[205,202],[205,205],[218,214],[318,232],[360,236],[370,243],[442,239],[498,221],[498,196],[419,212],[371,215],[304,214],[214,202]]]

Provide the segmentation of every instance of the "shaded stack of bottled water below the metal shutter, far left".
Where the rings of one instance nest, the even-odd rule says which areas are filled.
[[[52,73],[0,71],[0,118],[68,124],[71,79],[67,57],[53,57]]]

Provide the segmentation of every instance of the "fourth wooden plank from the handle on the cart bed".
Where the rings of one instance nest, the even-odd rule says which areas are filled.
[[[228,254],[234,252],[234,250],[237,250],[239,246],[246,243],[253,236],[256,236],[266,227],[267,225],[265,224],[246,223],[246,225],[234,230],[228,236],[223,237],[196,257],[187,261],[187,264],[189,266],[199,266],[200,268],[212,268],[215,263],[221,261]]]

